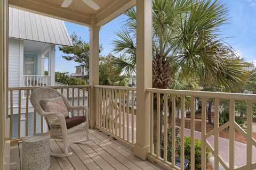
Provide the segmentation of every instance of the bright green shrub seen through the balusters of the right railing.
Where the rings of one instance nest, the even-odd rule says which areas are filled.
[[[185,158],[191,161],[190,158],[190,142],[191,142],[191,137],[185,137],[184,143],[185,143]],[[202,147],[202,142],[199,139],[195,139],[195,169],[201,169],[201,147]],[[178,154],[180,155],[180,149],[178,150]],[[210,150],[206,149],[206,163],[209,161],[210,158]]]

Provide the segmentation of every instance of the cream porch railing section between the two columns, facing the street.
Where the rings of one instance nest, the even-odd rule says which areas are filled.
[[[135,90],[131,87],[97,88],[96,128],[133,146],[136,141]]]

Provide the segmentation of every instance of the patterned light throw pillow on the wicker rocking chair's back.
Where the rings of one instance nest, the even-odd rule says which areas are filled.
[[[60,112],[65,117],[69,117],[67,107],[61,97],[40,100],[45,112]]]

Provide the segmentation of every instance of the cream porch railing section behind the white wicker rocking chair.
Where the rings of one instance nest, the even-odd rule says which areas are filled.
[[[11,143],[20,141],[23,137],[34,133],[47,132],[47,125],[30,104],[29,95],[22,99],[22,92],[31,94],[39,87],[9,88],[10,140]],[[90,110],[91,86],[54,86],[53,89],[66,96],[72,106],[87,105]],[[89,117],[90,119],[90,117]]]

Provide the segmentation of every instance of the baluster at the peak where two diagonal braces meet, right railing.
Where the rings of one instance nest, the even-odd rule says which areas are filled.
[[[235,168],[235,100],[229,100],[229,169]]]

